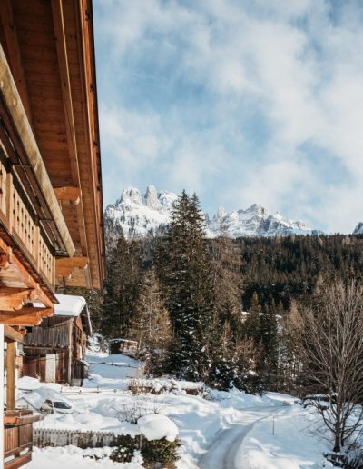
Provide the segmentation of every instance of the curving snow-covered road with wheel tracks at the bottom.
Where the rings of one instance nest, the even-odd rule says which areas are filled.
[[[243,411],[243,416],[236,420],[231,428],[222,430],[211,443],[207,453],[201,456],[198,467],[200,469],[238,469],[240,466],[236,456],[244,437],[260,420],[270,417],[272,414],[282,412],[282,407],[251,407]]]

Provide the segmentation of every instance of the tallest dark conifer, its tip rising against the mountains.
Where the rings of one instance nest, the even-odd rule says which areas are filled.
[[[178,198],[160,262],[172,321],[170,371],[206,379],[212,361],[213,278],[196,195],[184,191]]]

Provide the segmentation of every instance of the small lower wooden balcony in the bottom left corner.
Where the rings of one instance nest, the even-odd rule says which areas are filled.
[[[32,411],[5,411],[4,468],[16,469],[32,459],[33,423],[42,420]]]

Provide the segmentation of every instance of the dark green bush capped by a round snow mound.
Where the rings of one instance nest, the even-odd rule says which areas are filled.
[[[168,442],[165,438],[144,443],[141,453],[145,467],[152,469],[154,464],[161,463],[162,467],[174,469],[180,457],[177,452],[180,446],[179,440]]]

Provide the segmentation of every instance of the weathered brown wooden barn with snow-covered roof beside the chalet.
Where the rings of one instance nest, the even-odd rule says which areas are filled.
[[[83,296],[56,294],[52,317],[24,336],[22,374],[45,383],[80,386],[87,377],[87,337],[92,333]]]

